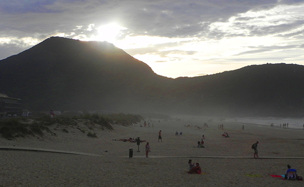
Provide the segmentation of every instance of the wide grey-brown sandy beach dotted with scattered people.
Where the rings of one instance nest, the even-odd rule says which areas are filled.
[[[227,122],[216,117],[173,118],[152,119],[151,127],[140,127],[138,123],[128,127],[114,125],[113,131],[95,129],[98,138],[88,137],[74,127],[65,127],[69,133],[64,133],[55,126],[50,130],[57,136],[14,140],[1,137],[0,147],[97,155],[0,150],[0,187],[304,186],[304,181],[270,176],[284,174],[287,164],[304,176],[304,158],[300,158],[304,157],[303,130]],[[203,127],[204,122],[208,128]],[[218,129],[220,124],[224,130]],[[191,127],[185,127],[187,125]],[[159,130],[163,142],[157,141]],[[183,135],[176,136],[176,131]],[[224,132],[230,137],[222,137]],[[206,137],[205,148],[197,148],[202,135]],[[140,152],[137,152],[136,143],[118,141],[129,137],[150,142],[149,158],[145,156],[146,142],[139,145]],[[259,141],[259,158],[253,158],[251,149],[256,141]],[[133,148],[132,158],[129,158],[129,148]],[[187,173],[189,159],[200,163],[203,174]]]

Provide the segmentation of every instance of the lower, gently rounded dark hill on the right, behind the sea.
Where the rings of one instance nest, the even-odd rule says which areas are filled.
[[[203,110],[204,113],[304,115],[304,66],[253,65],[188,80],[182,78],[180,82],[191,90],[192,109]]]

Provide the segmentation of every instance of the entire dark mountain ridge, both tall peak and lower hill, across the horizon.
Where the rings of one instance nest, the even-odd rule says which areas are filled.
[[[0,60],[0,93],[35,111],[304,116],[304,66],[171,79],[113,44],[51,37]]]

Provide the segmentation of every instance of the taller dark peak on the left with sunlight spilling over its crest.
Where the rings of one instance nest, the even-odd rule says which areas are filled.
[[[170,80],[113,44],[61,37],[1,60],[0,74],[0,91],[34,110],[138,110]]]

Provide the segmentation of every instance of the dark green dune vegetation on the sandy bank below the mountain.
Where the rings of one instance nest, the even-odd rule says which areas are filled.
[[[87,136],[97,137],[94,132],[87,132],[84,128],[79,128],[79,123],[82,122],[89,126],[90,130],[94,130],[92,125],[98,126],[102,130],[113,130],[112,125],[124,125],[128,126],[132,123],[140,122],[143,118],[139,115],[125,115],[125,114],[86,114],[80,116],[56,116],[56,118],[50,118],[49,115],[33,116],[33,117],[19,117],[10,119],[0,119],[0,135],[8,140],[12,140],[17,137],[26,136],[40,136],[43,137],[45,133],[55,135],[50,130],[51,125],[57,125],[62,127],[62,131],[69,133],[64,127],[75,127],[82,133],[87,133]],[[60,129],[60,128],[59,128]]]

